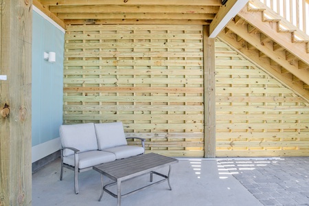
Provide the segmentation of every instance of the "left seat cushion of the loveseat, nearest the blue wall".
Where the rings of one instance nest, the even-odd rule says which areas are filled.
[[[104,152],[99,150],[93,150],[89,152],[81,152],[78,154],[79,165],[78,168],[84,169],[94,165],[100,165],[116,159],[115,155],[111,152]],[[75,166],[74,155],[70,155],[63,158],[63,163],[71,166]]]

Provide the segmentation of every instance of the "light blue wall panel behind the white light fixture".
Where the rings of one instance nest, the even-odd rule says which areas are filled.
[[[35,11],[32,25],[33,147],[59,137],[58,129],[62,124],[65,34]],[[44,52],[56,52],[56,62],[44,60]]]

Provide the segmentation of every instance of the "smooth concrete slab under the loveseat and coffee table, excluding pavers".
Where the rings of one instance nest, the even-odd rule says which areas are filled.
[[[73,192],[73,171],[65,169],[64,179],[59,181],[60,159],[32,175],[32,205],[117,205],[117,200],[101,192],[100,174],[94,170],[80,173],[80,193]],[[167,174],[168,168],[159,170]],[[106,177],[106,183],[111,181]],[[148,183],[149,176],[141,176],[124,183],[126,188]],[[179,159],[172,165],[170,177],[172,191],[164,182],[146,190],[122,198],[126,205],[262,205],[218,159]]]

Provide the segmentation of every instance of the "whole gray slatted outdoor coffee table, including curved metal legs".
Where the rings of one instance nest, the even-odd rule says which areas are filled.
[[[122,197],[128,196],[129,194],[134,194],[135,192],[138,192],[139,190],[144,190],[147,187],[150,187],[152,185],[163,183],[164,181],[168,181],[168,186],[170,187],[170,190],[172,190],[172,187],[170,186],[171,165],[177,162],[178,162],[178,159],[174,159],[172,157],[165,157],[162,155],[157,155],[155,153],[149,153],[146,155],[138,155],[138,156],[129,157],[126,159],[119,159],[119,160],[112,161],[109,163],[104,163],[102,165],[96,165],[93,167],[93,170],[100,172],[101,183],[102,183],[102,192],[101,192],[99,201],[101,201],[101,198],[105,191],[111,196],[113,196],[114,198],[117,198],[117,206],[120,206]],[[164,168],[166,166],[170,167],[168,171],[168,175],[161,174],[159,172],[154,171],[159,168]],[[152,182],[153,174],[162,176],[163,179],[155,183],[150,183],[150,185],[146,185],[132,192],[122,194],[121,190],[122,190],[123,181],[126,181],[128,179],[133,179],[137,176],[141,176],[147,173],[150,174],[150,182]],[[108,176],[108,178],[110,178],[114,182],[109,183],[108,185],[104,185],[103,176]],[[116,184],[117,184],[117,194],[114,194],[113,192],[111,192],[111,190],[107,189],[107,187],[110,187]]]

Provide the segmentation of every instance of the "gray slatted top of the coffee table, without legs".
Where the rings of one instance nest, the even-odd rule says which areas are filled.
[[[145,174],[177,162],[178,159],[172,157],[148,153],[96,165],[93,167],[93,170],[117,181],[119,179],[129,179],[139,174]]]

